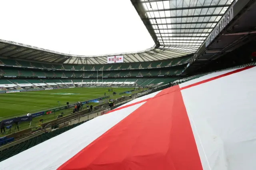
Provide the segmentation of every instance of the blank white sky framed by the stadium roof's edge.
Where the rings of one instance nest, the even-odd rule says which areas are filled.
[[[154,46],[130,0],[0,0],[0,39],[74,55]]]

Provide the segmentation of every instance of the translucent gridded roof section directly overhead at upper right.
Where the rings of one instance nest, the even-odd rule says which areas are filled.
[[[160,47],[188,53],[196,52],[232,2],[140,0]]]

